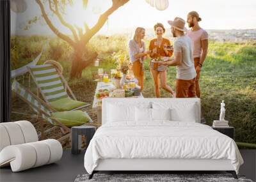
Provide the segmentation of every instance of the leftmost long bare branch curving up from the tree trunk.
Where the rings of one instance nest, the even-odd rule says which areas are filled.
[[[42,17],[44,17],[45,22],[47,23],[47,25],[50,27],[50,29],[53,31],[54,34],[56,34],[58,37],[60,37],[61,39],[65,40],[67,43],[69,43],[72,47],[76,46],[76,43],[69,38],[67,35],[60,33],[60,31],[58,31],[58,29],[52,24],[51,20],[49,19],[49,17],[47,16],[47,14],[45,13],[45,9],[44,9],[44,5],[42,4],[42,2],[40,0],[36,0],[36,3],[40,6],[40,10],[42,13]]]

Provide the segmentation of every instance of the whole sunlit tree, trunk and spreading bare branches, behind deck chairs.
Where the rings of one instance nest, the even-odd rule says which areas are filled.
[[[60,20],[63,26],[68,27],[68,29],[72,31],[72,34],[74,35],[74,39],[75,39],[75,40],[72,40],[72,38],[70,38],[66,34],[61,33],[57,29],[57,27],[55,27],[54,24],[52,24],[51,19],[49,19],[49,16],[45,11],[46,1],[44,2],[41,0],[36,0],[36,3],[40,6],[42,17],[44,17],[45,22],[47,23],[49,28],[52,30],[52,32],[56,34],[56,36],[58,36],[59,38],[67,42],[69,45],[71,45],[72,48],[74,49],[74,58],[72,60],[70,79],[81,78],[83,69],[86,68],[86,66],[88,66],[89,64],[91,64],[95,59],[95,57],[97,57],[97,52],[93,52],[93,53],[91,52],[91,54],[88,54],[89,53],[88,50],[87,49],[84,50],[84,47],[92,38],[92,36],[94,36],[102,28],[102,26],[104,26],[105,22],[108,20],[109,15],[111,15],[114,11],[116,11],[118,8],[123,6],[128,1],[129,0],[112,0],[112,6],[107,11],[102,13],[102,15],[100,15],[100,18],[97,24],[95,24],[95,26],[89,29],[89,27],[85,24],[86,33],[84,34],[83,34],[83,31],[81,31],[81,28],[78,29],[79,37],[80,37],[80,40],[79,40],[74,27],[71,24],[68,24],[68,22],[66,22],[61,15],[60,6],[61,4],[63,5],[63,3],[61,3],[62,1],[60,1],[59,3],[56,0],[53,2],[49,0],[49,9],[51,10],[51,12],[58,17],[58,19]],[[84,0],[84,4],[86,5],[87,3],[88,2]],[[53,4],[54,4],[54,8],[52,6]]]

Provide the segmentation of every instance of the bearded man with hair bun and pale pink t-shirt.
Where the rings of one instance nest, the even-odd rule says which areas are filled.
[[[207,56],[207,49],[208,49],[208,34],[207,32],[202,29],[198,22],[202,19],[199,17],[196,11],[191,11],[188,13],[188,26],[191,28],[187,34],[191,38],[193,42],[193,57],[194,57],[194,64],[196,69],[196,96],[200,98],[201,92],[199,87],[199,79],[200,79],[200,71],[204,64],[205,57]]]

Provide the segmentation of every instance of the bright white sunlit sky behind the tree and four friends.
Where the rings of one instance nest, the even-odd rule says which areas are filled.
[[[52,34],[44,20],[34,24],[29,31],[22,30],[29,19],[40,15],[40,8],[35,0],[26,0],[26,3],[28,9],[24,13],[12,11],[12,34]],[[145,0],[130,0],[109,17],[100,33],[122,33],[125,29],[127,31],[137,26],[152,28],[156,22],[162,22],[168,27],[167,20],[177,16],[186,19],[186,15],[192,10],[198,11],[202,17],[200,26],[204,29],[256,29],[255,0],[169,0],[169,4],[168,9],[158,11]],[[74,0],[73,6],[67,7],[67,15],[64,17],[70,24],[83,26],[83,22],[87,22],[92,27],[100,13],[110,6],[111,0],[89,0],[88,8],[84,10],[81,1]],[[48,6],[46,10],[48,11]],[[52,19],[52,22],[61,32],[70,34],[57,19]]]

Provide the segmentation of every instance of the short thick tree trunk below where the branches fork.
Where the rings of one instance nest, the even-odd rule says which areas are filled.
[[[86,56],[83,56],[86,55]],[[72,68],[70,72],[71,79],[79,79],[82,77],[82,72],[84,68],[89,66],[95,58],[98,56],[97,52],[89,52],[87,49],[84,51],[75,50],[74,57],[72,60]]]

